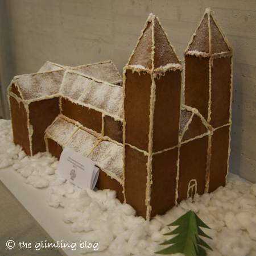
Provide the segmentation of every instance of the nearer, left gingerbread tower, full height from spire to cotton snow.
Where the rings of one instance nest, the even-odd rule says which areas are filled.
[[[147,219],[175,202],[180,64],[158,18],[150,14],[123,69],[125,197]]]

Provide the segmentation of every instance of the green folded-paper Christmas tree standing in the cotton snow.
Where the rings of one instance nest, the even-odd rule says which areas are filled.
[[[170,236],[177,234],[176,237],[170,240],[160,243],[160,245],[171,245],[166,249],[157,251],[156,254],[170,255],[175,253],[184,253],[186,256],[205,256],[207,255],[205,248],[212,250],[210,246],[204,242],[199,236],[209,236],[203,232],[201,228],[210,229],[203,221],[196,215],[195,212],[189,210],[183,216],[172,222],[168,226],[178,226],[175,230],[170,233],[164,234],[164,236]]]

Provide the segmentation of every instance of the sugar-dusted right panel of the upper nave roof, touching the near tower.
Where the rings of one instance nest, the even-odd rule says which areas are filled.
[[[81,98],[81,102],[117,115],[123,104],[122,88],[104,82],[93,82]]]

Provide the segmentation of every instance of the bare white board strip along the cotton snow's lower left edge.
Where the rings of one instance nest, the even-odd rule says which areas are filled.
[[[78,256],[80,251],[79,233],[72,233],[71,224],[61,220],[63,208],[50,207],[46,202],[47,188],[35,189],[24,181],[24,177],[18,174],[12,167],[0,170],[0,181],[7,191],[15,197],[24,209],[34,218],[42,232],[49,238],[50,242],[72,243],[77,242],[76,250],[71,247],[57,248],[61,254],[67,256]],[[48,244],[49,241],[47,241]]]

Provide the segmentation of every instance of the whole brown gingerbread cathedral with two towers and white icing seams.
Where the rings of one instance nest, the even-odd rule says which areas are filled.
[[[113,189],[146,219],[212,192],[228,173],[232,48],[207,9],[182,65],[150,14],[123,81],[111,61],[64,67],[47,62],[14,77],[9,92],[14,143],[28,155],[68,146],[100,167],[98,189]]]

